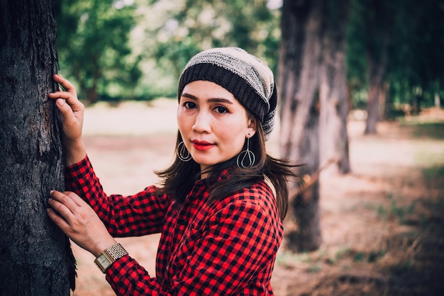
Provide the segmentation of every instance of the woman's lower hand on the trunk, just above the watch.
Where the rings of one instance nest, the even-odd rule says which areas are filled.
[[[63,232],[83,249],[99,256],[116,244],[94,210],[72,192],[50,192],[48,216]]]

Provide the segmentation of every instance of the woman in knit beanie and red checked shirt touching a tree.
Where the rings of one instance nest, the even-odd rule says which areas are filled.
[[[67,192],[48,215],[96,256],[118,295],[273,295],[270,278],[292,166],[265,152],[276,113],[272,71],[235,47],[194,56],[179,79],[177,156],[162,186],[106,195],[82,142],[84,107],[69,81],[57,100]],[[276,193],[274,197],[270,183]],[[113,237],[161,233],[153,277]]]

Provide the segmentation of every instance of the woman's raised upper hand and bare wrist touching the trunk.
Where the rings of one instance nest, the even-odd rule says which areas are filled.
[[[48,97],[56,100],[55,105],[60,110],[62,142],[66,149],[66,164],[70,166],[82,161],[87,154],[82,140],[84,105],[77,98],[77,91],[70,81],[60,74],[55,74],[53,78],[65,89],[50,93]]]

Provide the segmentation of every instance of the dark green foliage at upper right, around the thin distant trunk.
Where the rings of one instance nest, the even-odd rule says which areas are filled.
[[[365,103],[368,50],[378,60],[386,33],[389,51],[384,81],[389,84],[392,106],[432,106],[436,93],[443,98],[443,18],[442,0],[351,0],[347,63],[354,106],[362,108]]]

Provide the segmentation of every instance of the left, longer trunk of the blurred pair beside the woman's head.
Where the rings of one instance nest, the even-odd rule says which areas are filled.
[[[304,164],[311,176],[319,169],[319,67],[321,67],[321,11],[323,1],[283,2],[282,43],[278,81],[281,86],[281,156]],[[298,232],[289,233],[292,251],[317,249],[322,242],[319,183],[292,203]]]

